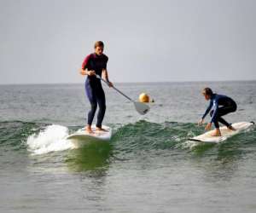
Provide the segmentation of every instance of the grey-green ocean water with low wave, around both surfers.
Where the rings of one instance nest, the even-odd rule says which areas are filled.
[[[206,86],[236,100],[228,121],[256,121],[255,81],[116,86],[147,92],[150,112],[105,87],[113,138],[80,148],[65,137],[86,124],[83,83],[0,86],[0,212],[256,212],[256,130],[187,140]]]

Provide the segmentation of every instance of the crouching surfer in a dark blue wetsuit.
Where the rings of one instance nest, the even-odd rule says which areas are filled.
[[[211,121],[207,124],[206,130],[210,130],[212,127],[212,123],[215,125],[215,132],[212,136],[221,136],[221,132],[219,130],[218,122],[224,124],[228,129],[235,130],[232,127],[232,124],[229,124],[222,118],[222,116],[230,113],[236,112],[236,102],[226,95],[218,95],[212,92],[212,89],[205,88],[202,91],[202,95],[205,96],[205,99],[210,100],[210,104],[207,107],[206,112],[202,116],[201,120],[198,122],[199,125],[203,124],[204,118],[206,118],[207,114],[210,112]],[[222,106],[222,107],[219,107]]]

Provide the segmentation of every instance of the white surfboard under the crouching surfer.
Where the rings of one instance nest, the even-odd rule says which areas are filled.
[[[212,136],[214,130],[207,131],[202,135],[190,138],[189,141],[200,141],[205,143],[219,143],[227,140],[231,136],[237,135],[245,130],[250,130],[253,127],[253,122],[238,122],[232,124],[236,130],[229,130],[227,127],[220,127],[221,136]]]

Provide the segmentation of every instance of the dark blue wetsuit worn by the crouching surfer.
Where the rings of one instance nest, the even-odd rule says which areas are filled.
[[[210,112],[211,109],[212,111]],[[211,123],[213,123],[216,128],[219,128],[218,122],[230,127],[231,124],[226,122],[224,118],[221,117],[230,112],[236,112],[236,102],[226,95],[213,94],[209,107],[207,107],[202,119],[207,116],[208,112],[210,112],[212,117]]]

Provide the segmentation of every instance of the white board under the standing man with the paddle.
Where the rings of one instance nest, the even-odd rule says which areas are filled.
[[[96,125],[91,126],[92,133],[88,133],[84,128],[77,130],[71,135],[67,136],[67,140],[72,140],[76,145],[80,146],[83,142],[88,141],[110,141],[112,136],[112,129],[108,126],[102,125],[105,131],[96,131]]]

